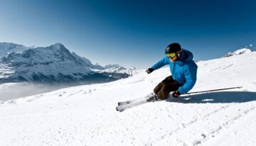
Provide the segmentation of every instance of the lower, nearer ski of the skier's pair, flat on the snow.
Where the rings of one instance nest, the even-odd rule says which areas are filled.
[[[122,106],[117,106],[116,107],[116,110],[119,111],[119,112],[122,112],[128,108],[132,108],[134,106],[139,106],[141,104],[144,104],[144,103],[147,103],[147,102],[151,102],[151,101],[157,101],[158,98],[156,95],[153,95],[153,96],[147,96],[147,98],[144,97],[144,99],[138,101],[138,99],[136,100],[132,100],[132,103],[128,103],[128,104],[124,104]],[[124,102],[127,102],[127,101],[124,101]]]

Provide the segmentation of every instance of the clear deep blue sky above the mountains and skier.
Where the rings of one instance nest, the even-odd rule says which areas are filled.
[[[196,60],[256,45],[256,2],[246,0],[0,0],[0,42],[63,43],[93,64],[147,68],[170,43]]]

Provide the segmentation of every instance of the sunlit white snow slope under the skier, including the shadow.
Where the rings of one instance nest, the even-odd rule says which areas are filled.
[[[192,91],[119,113],[118,101],[151,93],[169,68],[107,84],[0,103],[1,145],[256,145],[256,52],[198,62]]]

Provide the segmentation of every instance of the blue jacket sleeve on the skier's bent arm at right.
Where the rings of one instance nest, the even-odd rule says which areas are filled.
[[[187,93],[196,84],[196,64],[186,64],[186,66],[183,67],[183,72],[185,74],[186,83],[178,88],[181,94]]]

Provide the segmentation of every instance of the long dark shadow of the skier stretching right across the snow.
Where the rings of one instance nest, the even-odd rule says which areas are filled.
[[[178,99],[170,97],[169,99],[166,99],[166,101],[178,103],[245,103],[256,101],[256,92],[219,91],[180,96]]]

